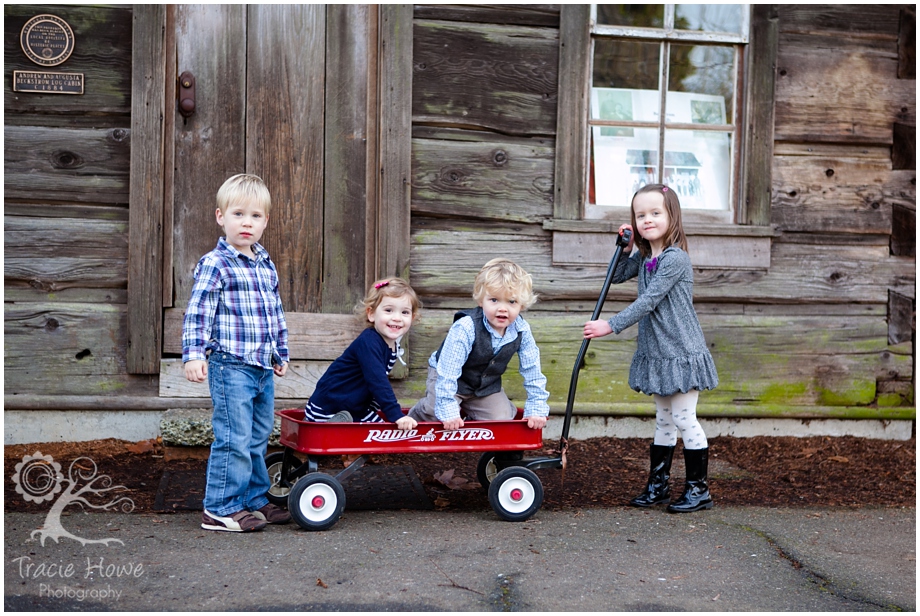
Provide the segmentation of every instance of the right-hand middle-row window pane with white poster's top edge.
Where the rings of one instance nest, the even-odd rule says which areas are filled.
[[[734,50],[714,45],[672,44],[670,56],[668,121],[732,124]]]

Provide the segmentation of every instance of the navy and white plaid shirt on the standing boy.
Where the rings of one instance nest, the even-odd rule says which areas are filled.
[[[288,358],[288,331],[278,272],[260,244],[254,259],[220,238],[195,267],[195,285],[182,327],[182,361],[220,351],[271,369]]]

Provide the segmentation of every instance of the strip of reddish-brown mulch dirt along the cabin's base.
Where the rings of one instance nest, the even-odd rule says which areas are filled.
[[[558,443],[547,442],[548,452]],[[543,508],[571,510],[626,504],[638,494],[648,473],[645,439],[593,438],[572,441],[564,471],[541,470]],[[17,464],[36,452],[52,456],[66,476],[71,463],[90,475],[107,475],[124,486],[135,512],[154,510],[161,479],[167,471],[200,477],[206,462],[166,460],[156,441],[130,443],[114,439],[85,443],[36,443],[4,447],[4,510],[47,511],[48,502],[28,502],[17,493]],[[438,508],[489,508],[476,481],[479,454],[409,454],[375,456],[378,465],[411,465],[426,494]],[[327,459],[331,467],[341,465]],[[199,475],[200,473],[200,475]],[[101,477],[100,477],[101,479]],[[672,482],[683,481],[680,446],[675,453]],[[916,437],[881,441],[855,437],[718,437],[710,440],[710,488],[719,505],[776,507],[916,506]],[[193,502],[195,499],[191,499]]]

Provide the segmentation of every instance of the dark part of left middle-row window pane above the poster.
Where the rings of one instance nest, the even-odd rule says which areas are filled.
[[[658,90],[659,43],[597,40],[594,42],[594,80],[597,88]]]

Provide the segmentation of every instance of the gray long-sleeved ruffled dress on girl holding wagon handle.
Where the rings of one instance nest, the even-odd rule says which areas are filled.
[[[693,309],[690,256],[677,246],[666,248],[657,259],[645,259],[636,251],[617,264],[613,282],[635,276],[638,298],[608,321],[617,334],[639,323],[629,386],[659,396],[716,387],[719,375]]]

